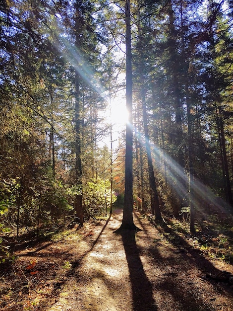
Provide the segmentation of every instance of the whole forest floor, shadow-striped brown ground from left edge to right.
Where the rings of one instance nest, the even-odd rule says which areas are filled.
[[[0,271],[0,311],[233,310],[233,265],[136,211],[142,231],[116,234],[121,219],[115,210],[82,229],[18,243]]]

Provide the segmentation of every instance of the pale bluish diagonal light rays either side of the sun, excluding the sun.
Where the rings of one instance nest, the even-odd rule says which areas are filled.
[[[61,34],[62,31],[58,32]],[[68,39],[64,36],[60,40],[55,40],[55,46],[58,51],[67,59],[67,61],[74,67],[83,80],[90,85],[105,101],[109,102],[108,94],[103,85],[95,78],[94,72],[86,62],[82,53],[77,47],[71,45]],[[62,48],[61,48],[62,47]],[[128,125],[129,126],[129,125]],[[142,134],[138,134],[138,139],[141,140]],[[126,142],[127,144],[127,142]],[[179,197],[187,195],[187,185],[189,184],[189,177],[184,173],[184,168],[181,167],[171,156],[166,155],[158,146],[151,145],[154,160],[160,172],[164,172],[164,165],[166,164],[167,179],[170,186],[177,193]],[[193,181],[192,181],[193,180]],[[223,199],[215,196],[213,191],[201,183],[197,178],[191,178],[191,187],[194,191],[194,204],[199,212],[204,213],[203,205],[211,204],[213,208],[220,212],[230,211],[231,207]]]

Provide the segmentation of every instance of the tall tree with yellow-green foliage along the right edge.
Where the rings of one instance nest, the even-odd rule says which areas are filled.
[[[222,12],[222,2],[209,1],[208,3],[208,27],[209,42],[207,55],[212,67],[207,67],[204,74],[205,87],[207,91],[207,118],[213,122],[211,135],[217,144],[217,158],[220,159],[222,166],[222,176],[219,188],[223,189],[227,202],[233,206],[233,196],[231,189],[231,178],[229,170],[230,157],[228,156],[227,146],[230,145],[231,138],[228,135],[228,124],[232,122],[231,110],[231,91],[232,87],[232,27],[231,20]],[[221,51],[221,53],[220,53]],[[229,123],[230,122],[230,123]],[[218,165],[219,166],[219,165]],[[219,181],[219,180],[218,180]]]

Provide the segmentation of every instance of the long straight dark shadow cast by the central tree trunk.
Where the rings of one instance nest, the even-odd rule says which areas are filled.
[[[152,284],[147,279],[139,256],[135,240],[135,231],[125,230],[120,233],[125,250],[132,287],[134,311],[157,310],[152,294]]]

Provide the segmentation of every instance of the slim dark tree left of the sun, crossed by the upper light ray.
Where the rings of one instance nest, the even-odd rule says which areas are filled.
[[[73,26],[73,32],[75,36],[75,172],[77,185],[75,213],[76,216],[79,218],[79,225],[81,227],[83,226],[81,159],[81,125],[83,121],[83,119],[81,118],[81,108],[83,103],[81,100],[81,86],[82,97],[84,98],[85,83],[95,83],[95,81],[93,81],[93,77],[91,77],[90,74],[88,76],[85,76],[87,70],[85,68],[85,64],[83,64],[83,62],[87,62],[88,60],[89,62],[93,61],[93,56],[95,54],[97,44],[92,11],[93,3],[91,1],[75,0]],[[84,54],[84,56],[82,55],[82,53]],[[88,64],[87,66],[91,68],[90,64]],[[86,81],[88,79],[89,81]],[[92,87],[94,88],[94,85]]]

